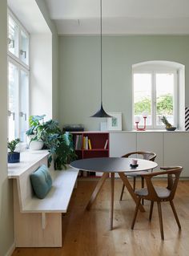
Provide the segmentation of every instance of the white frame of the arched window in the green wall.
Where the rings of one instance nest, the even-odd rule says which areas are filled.
[[[155,129],[155,130],[161,130],[164,128],[164,125],[157,125],[156,124],[156,83],[155,83],[155,74],[163,74],[163,73],[172,73],[174,74],[174,100],[173,100],[173,116],[174,116],[174,126],[178,126],[178,120],[179,120],[179,84],[178,84],[178,70],[177,69],[170,69],[167,68],[163,69],[149,69],[145,70],[142,68],[139,70],[133,70],[132,71],[132,127],[135,128],[135,103],[134,103],[134,75],[135,74],[151,74],[151,125],[147,125],[148,129]]]

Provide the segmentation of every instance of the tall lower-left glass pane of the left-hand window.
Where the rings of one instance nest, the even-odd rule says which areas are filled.
[[[9,140],[18,137],[18,68],[9,63]]]

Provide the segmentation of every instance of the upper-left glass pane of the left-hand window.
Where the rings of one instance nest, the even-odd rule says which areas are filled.
[[[8,36],[9,51],[18,57],[18,25],[9,16],[9,36]]]

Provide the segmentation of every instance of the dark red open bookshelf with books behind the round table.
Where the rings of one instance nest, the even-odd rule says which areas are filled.
[[[109,132],[71,132],[78,159],[109,157]],[[82,177],[94,177],[95,173],[81,172]]]

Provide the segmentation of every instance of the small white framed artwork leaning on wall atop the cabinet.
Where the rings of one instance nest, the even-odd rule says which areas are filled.
[[[122,131],[122,113],[114,112],[108,113],[111,118],[107,118],[107,130],[108,131]]]

